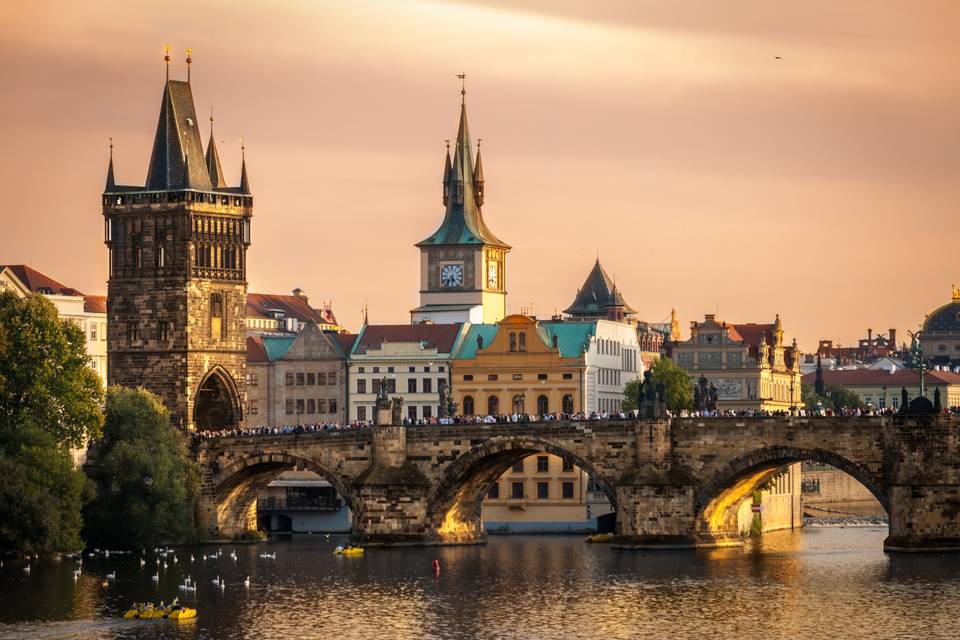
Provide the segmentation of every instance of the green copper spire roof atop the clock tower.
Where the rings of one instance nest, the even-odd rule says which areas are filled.
[[[447,175],[448,171],[444,168],[445,179]],[[480,179],[483,179],[482,172]],[[429,238],[418,242],[418,247],[469,244],[510,248],[510,245],[493,235],[487,227],[480,204],[477,202],[474,189],[473,151],[465,104],[460,105],[460,127],[457,131],[453,162],[450,165],[449,189],[450,197],[447,199],[443,222]],[[458,190],[463,194],[462,198],[457,197]]]

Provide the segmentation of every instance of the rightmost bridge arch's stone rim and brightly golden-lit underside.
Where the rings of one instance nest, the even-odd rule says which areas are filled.
[[[736,517],[743,500],[783,467],[804,461],[828,464],[852,476],[890,513],[886,487],[876,472],[826,449],[772,446],[731,460],[700,485],[694,499],[698,534],[719,543],[738,537]]]

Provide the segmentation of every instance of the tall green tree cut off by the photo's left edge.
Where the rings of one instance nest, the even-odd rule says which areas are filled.
[[[79,549],[88,485],[71,449],[99,433],[83,332],[43,296],[0,293],[0,550]]]

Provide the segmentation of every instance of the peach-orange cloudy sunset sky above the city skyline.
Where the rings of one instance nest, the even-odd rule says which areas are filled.
[[[143,184],[169,42],[232,184],[247,144],[251,291],[409,321],[465,71],[510,311],[562,310],[599,252],[685,335],[719,311],[808,351],[905,336],[960,283],[958,24],[948,0],[5,2],[0,263],[106,291],[107,137]]]

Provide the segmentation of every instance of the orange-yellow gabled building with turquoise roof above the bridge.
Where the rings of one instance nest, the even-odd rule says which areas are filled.
[[[451,367],[463,415],[583,411],[592,322],[537,322],[511,315],[470,327]]]

